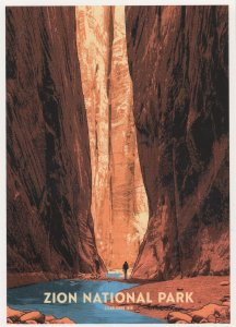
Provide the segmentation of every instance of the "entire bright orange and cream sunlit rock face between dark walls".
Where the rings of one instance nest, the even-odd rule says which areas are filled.
[[[78,7],[76,41],[92,159],[92,214],[109,268],[135,261],[148,221],[137,150],[125,9]]]

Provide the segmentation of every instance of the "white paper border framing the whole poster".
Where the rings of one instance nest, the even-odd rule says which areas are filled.
[[[0,47],[1,47],[1,111],[0,111],[0,326],[8,326],[5,323],[5,303],[7,303],[7,189],[5,189],[5,5],[208,5],[208,4],[225,4],[229,5],[229,146],[231,146],[231,279],[232,279],[232,319],[231,324],[217,324],[222,326],[236,326],[236,1],[235,0],[3,0],[0,4]],[[106,324],[103,324],[108,326]],[[9,325],[10,326],[10,325]],[[27,325],[35,326],[35,325]],[[52,326],[52,325],[51,325]],[[60,326],[60,325],[59,325]],[[61,325],[64,326],[64,325]],[[73,326],[73,325],[70,325]],[[97,326],[95,324],[84,324],[80,326]],[[130,324],[113,324],[113,326],[130,326]],[[155,324],[135,324],[135,326],[155,326]],[[168,324],[162,324],[162,326],[169,326]],[[215,324],[206,324],[206,326],[215,326]]]

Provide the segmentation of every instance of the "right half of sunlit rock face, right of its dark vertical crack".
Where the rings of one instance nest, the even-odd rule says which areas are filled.
[[[132,266],[149,218],[140,172],[132,110],[132,83],[127,58],[125,8],[114,9],[110,70],[111,263]]]

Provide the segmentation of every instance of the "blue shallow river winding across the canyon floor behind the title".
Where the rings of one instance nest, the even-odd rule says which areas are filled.
[[[110,276],[114,277],[114,276]],[[161,324],[163,322],[138,313],[122,310],[110,310],[103,303],[83,303],[82,294],[92,292],[117,293],[137,286],[120,281],[107,280],[55,280],[8,290],[8,305],[15,310],[37,310],[57,318],[67,316],[76,324]],[[78,293],[78,303],[45,304],[44,292]]]

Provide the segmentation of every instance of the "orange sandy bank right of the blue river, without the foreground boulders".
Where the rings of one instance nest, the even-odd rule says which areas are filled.
[[[142,292],[142,294],[146,294],[146,292],[150,292],[150,298],[152,300],[151,305],[129,304],[129,310],[135,312],[137,314],[166,319],[168,313],[172,311],[190,312],[201,308],[202,306],[210,303],[222,305],[221,300],[224,296],[229,295],[229,284],[223,286],[221,283],[228,281],[228,276],[199,276],[193,278],[174,279],[160,282],[145,282],[127,291],[125,290],[123,293],[134,292],[135,294],[138,294]],[[158,292],[172,292],[174,295],[176,294],[176,292],[192,292],[193,303],[167,303],[166,301],[158,303]],[[122,305],[126,304],[123,303]]]

